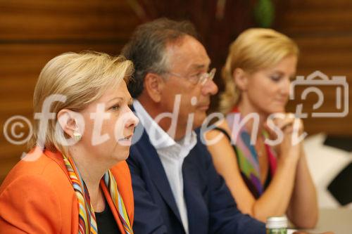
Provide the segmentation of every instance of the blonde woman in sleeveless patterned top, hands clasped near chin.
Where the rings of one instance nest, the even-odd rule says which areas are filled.
[[[220,110],[226,118],[206,139],[220,139],[208,144],[208,150],[241,212],[260,221],[287,214],[295,226],[312,228],[318,219],[315,187],[303,143],[291,144],[294,122],[299,135],[303,124],[285,112],[297,59],[294,41],[275,30],[240,34],[222,70]],[[272,124],[283,139],[276,146],[271,142],[278,131],[268,122],[274,113],[281,113]]]

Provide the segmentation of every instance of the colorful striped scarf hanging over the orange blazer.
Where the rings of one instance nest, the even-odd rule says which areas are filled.
[[[65,166],[70,176],[70,181],[73,184],[73,189],[77,195],[79,211],[78,233],[97,234],[98,228],[96,226],[94,209],[90,202],[87,186],[85,185],[84,181],[82,181],[80,172],[77,170],[75,162],[73,162],[72,158],[63,156],[63,161],[65,162]],[[130,218],[128,217],[122,197],[120,196],[120,193],[118,193],[118,186],[115,178],[113,177],[113,174],[110,170],[106,171],[104,174],[103,181],[110,192],[111,199],[115,204],[115,209],[118,211],[118,216],[120,217],[120,221],[123,224],[125,233],[132,234],[133,230],[130,224]]]

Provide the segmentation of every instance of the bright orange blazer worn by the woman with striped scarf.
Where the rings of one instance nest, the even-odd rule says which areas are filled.
[[[130,169],[125,161],[111,169],[133,224]],[[104,186],[104,194],[108,193]],[[113,207],[110,196],[106,198]],[[111,209],[125,233],[115,209]],[[0,233],[78,233],[78,202],[59,152],[28,154],[13,167],[0,187]]]

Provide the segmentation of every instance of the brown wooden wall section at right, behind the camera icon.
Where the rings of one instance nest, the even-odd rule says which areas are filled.
[[[288,0],[284,13],[277,19],[277,30],[293,38],[301,51],[298,75],[307,76],[316,70],[332,76],[345,76],[352,84],[352,1],[349,0]],[[299,92],[303,91],[301,89]],[[334,86],[322,89],[325,100],[321,111],[337,112]],[[348,89],[348,109],[352,106],[352,86]],[[314,112],[317,96],[310,94],[304,101],[307,112]],[[289,103],[290,111],[296,110],[301,100]],[[352,110],[349,110],[351,112]],[[325,132],[333,135],[352,135],[352,115],[343,118],[304,119],[309,134]]]

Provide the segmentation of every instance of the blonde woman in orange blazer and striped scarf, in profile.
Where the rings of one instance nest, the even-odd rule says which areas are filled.
[[[0,187],[0,233],[133,233],[132,70],[130,60],[93,52],[45,65],[32,151]]]

